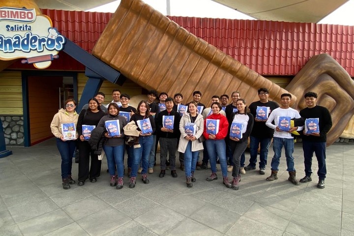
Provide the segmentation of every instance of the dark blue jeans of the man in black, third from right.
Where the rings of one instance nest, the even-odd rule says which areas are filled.
[[[261,144],[259,167],[266,168],[270,143],[271,138],[256,138],[254,136],[250,136],[250,166],[256,167],[258,146]]]

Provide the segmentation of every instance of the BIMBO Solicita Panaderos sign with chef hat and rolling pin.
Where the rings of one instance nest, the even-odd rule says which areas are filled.
[[[64,47],[65,37],[52,27],[46,15],[34,9],[0,8],[0,59],[25,58],[22,63],[43,69]]]

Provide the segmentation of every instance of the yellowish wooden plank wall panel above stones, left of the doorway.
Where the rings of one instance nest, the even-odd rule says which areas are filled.
[[[0,72],[0,115],[23,115],[20,71]]]

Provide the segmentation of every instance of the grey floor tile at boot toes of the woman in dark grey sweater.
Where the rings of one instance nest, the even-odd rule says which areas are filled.
[[[117,204],[133,198],[136,195],[138,194],[129,188],[123,187],[122,189],[117,189],[116,187],[110,187],[108,188],[108,191],[97,194],[97,197],[111,206],[116,206]]]

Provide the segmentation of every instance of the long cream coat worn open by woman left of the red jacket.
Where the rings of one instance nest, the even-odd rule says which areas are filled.
[[[187,136],[187,134],[185,133],[185,130],[184,130],[184,126],[187,122],[192,122],[189,117],[189,113],[183,114],[183,116],[181,117],[180,122],[179,122],[179,131],[180,131],[181,135],[179,137],[178,151],[183,152],[183,153],[184,153],[185,149],[187,148],[187,144],[189,142],[184,138]],[[198,140],[201,136],[203,136],[203,131],[204,131],[204,118],[203,118],[203,116],[200,114],[197,114],[197,118],[194,123],[197,125],[196,135],[195,135],[197,140],[192,141],[192,151],[203,150],[204,149],[203,143],[199,142],[199,140]]]

